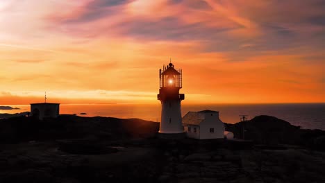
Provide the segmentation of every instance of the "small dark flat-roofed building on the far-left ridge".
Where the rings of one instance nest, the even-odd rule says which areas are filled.
[[[44,118],[56,118],[60,112],[60,103],[31,103],[31,116]]]

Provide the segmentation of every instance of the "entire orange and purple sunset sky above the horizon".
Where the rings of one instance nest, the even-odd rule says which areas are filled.
[[[1,0],[0,105],[324,103],[325,1]]]

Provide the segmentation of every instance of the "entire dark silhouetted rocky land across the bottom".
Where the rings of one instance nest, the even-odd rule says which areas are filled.
[[[226,127],[241,138],[242,125]],[[324,182],[324,131],[244,125],[249,141],[157,139],[159,123],[141,119],[2,119],[0,182]]]

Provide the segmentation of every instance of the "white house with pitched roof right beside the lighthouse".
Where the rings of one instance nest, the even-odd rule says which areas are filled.
[[[188,137],[194,139],[223,139],[224,123],[219,112],[203,110],[188,112],[183,116],[183,126]]]

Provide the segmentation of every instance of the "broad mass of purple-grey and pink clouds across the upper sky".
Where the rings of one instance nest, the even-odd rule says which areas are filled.
[[[151,11],[147,16],[128,11],[133,2],[145,3],[90,1],[75,8],[72,14],[56,19],[56,24],[77,36],[124,37],[138,42],[196,41],[207,52],[240,51],[243,55],[250,55],[252,49],[263,54],[260,51],[324,45],[311,38],[317,31],[322,32],[310,30],[313,24],[323,24],[324,8],[317,6],[321,3],[317,0],[157,1],[158,9],[140,7]],[[204,11],[197,11],[201,9]],[[248,44],[255,46],[242,46]]]

